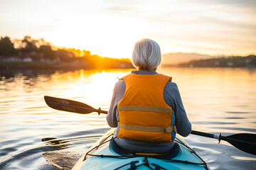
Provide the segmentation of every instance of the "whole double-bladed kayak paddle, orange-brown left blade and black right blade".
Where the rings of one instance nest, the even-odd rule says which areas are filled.
[[[44,96],[44,99],[50,108],[54,108],[59,111],[68,111],[81,114],[88,114],[92,112],[97,112],[98,115],[100,115],[100,113],[107,114],[107,111],[102,111],[100,108],[92,108],[91,106],[78,101],[72,101],[64,98],[55,98],[50,96]],[[226,142],[229,142],[231,145],[242,150],[243,152],[256,155],[255,134],[238,133],[225,137],[221,136],[221,133],[220,135],[214,135],[206,132],[198,132],[196,130],[192,130],[191,134],[218,139],[219,143],[220,140],[225,140]]]

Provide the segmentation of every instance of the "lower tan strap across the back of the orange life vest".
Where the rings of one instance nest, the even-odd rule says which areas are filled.
[[[135,130],[135,131],[143,131],[143,132],[167,132],[171,133],[173,131],[176,132],[176,125],[170,127],[149,127],[149,126],[138,126],[138,125],[125,125],[123,123],[118,123],[119,128],[124,130]]]

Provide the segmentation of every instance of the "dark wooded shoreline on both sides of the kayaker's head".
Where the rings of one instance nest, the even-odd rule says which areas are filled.
[[[165,67],[256,67],[256,55],[215,57],[206,60],[164,65]],[[88,50],[58,48],[26,35],[22,40],[0,38],[0,68],[21,69],[107,69],[132,68],[129,59],[91,55]]]

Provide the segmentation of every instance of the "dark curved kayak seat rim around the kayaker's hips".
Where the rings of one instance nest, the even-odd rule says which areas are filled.
[[[179,147],[179,145],[174,142],[174,147],[171,148],[171,150],[169,152],[166,152],[164,154],[144,154],[144,153],[135,153],[135,152],[129,152],[127,150],[124,150],[122,148],[120,148],[119,146],[117,146],[116,142],[114,142],[114,140],[110,141],[110,147],[112,148],[112,150],[119,154],[122,155],[124,157],[154,157],[154,158],[158,158],[158,159],[172,159],[174,157],[176,157],[178,155],[178,153],[181,151],[181,147]]]

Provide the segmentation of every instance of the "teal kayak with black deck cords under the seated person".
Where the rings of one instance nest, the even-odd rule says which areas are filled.
[[[167,154],[134,154],[125,152],[115,145],[111,129],[82,155],[73,167],[78,169],[208,169],[206,162],[176,135],[175,145]]]

